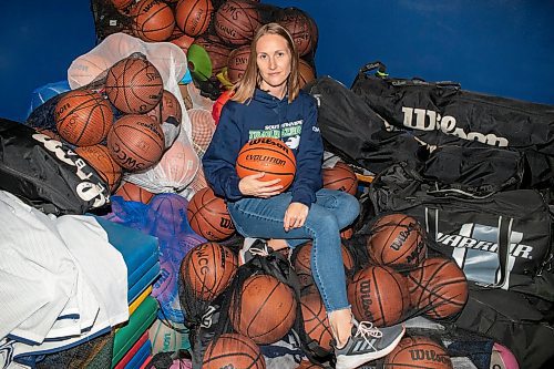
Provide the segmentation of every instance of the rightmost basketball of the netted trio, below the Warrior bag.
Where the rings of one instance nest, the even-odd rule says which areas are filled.
[[[432,257],[408,275],[412,305],[433,319],[453,316],[468,300],[468,281],[455,262]]]

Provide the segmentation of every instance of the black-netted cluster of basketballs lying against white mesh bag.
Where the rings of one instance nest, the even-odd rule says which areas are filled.
[[[107,70],[100,88],[61,95],[55,104],[57,139],[75,146],[113,191],[124,171],[157,164],[166,151],[161,123],[181,124],[177,99],[164,90],[157,69],[132,54]]]

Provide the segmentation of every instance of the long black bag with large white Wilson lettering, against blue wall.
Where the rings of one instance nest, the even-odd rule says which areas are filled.
[[[529,157],[534,185],[552,180],[553,105],[464,91],[450,81],[389,78],[380,62],[362,66],[351,90],[390,124],[428,144],[519,150]]]

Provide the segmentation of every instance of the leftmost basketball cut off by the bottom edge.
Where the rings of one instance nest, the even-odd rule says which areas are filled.
[[[266,361],[258,346],[248,337],[223,334],[212,341],[202,361],[202,369],[265,369]]]

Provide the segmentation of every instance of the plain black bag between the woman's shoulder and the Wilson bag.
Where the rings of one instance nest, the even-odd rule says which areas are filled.
[[[396,162],[418,165],[427,150],[411,133],[387,124],[340,82],[322,76],[305,86],[318,101],[318,125],[327,151],[373,173]]]

